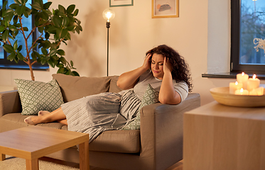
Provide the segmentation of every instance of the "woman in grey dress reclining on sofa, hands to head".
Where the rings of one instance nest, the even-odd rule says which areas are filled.
[[[24,122],[36,125],[58,121],[68,125],[68,130],[89,133],[91,142],[100,132],[121,129],[136,116],[148,84],[159,91],[158,100],[163,104],[180,103],[192,89],[183,57],[173,48],[159,45],[146,52],[141,67],[121,74],[117,86],[124,91],[80,98],[51,113],[40,111]]]

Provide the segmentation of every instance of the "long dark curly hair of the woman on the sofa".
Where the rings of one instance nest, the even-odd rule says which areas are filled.
[[[166,57],[173,67],[173,71],[171,72],[172,79],[175,79],[177,83],[185,81],[185,83],[188,84],[189,91],[192,91],[193,85],[191,84],[188,64],[185,62],[184,58],[178,54],[178,52],[176,52],[172,47],[168,47],[168,45],[158,45],[158,47],[154,47],[152,50],[146,52],[146,55],[149,53],[151,53],[151,55],[156,53]]]

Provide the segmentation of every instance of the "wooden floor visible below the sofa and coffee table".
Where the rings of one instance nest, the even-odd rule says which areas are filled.
[[[72,163],[72,162],[65,162],[65,161],[58,160],[58,159],[52,159],[49,157],[42,157],[42,158],[40,158],[40,160],[47,161],[47,162],[53,162],[55,164],[62,164],[62,165],[66,165],[66,166],[79,168],[79,164]],[[183,160],[174,164],[173,166],[169,167],[166,170],[182,170],[182,169],[183,169]],[[102,169],[102,168],[90,166],[90,170],[109,170],[109,169]]]

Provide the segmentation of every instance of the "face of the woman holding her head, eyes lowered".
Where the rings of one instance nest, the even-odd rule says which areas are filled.
[[[154,53],[151,60],[151,69],[153,72],[153,77],[156,77],[158,79],[163,79],[164,76],[163,64],[164,64],[163,55],[158,55]]]

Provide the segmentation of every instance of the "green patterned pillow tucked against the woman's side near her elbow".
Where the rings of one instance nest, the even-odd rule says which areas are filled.
[[[153,87],[148,84],[146,92],[144,93],[143,100],[141,101],[141,106],[136,118],[129,124],[125,125],[121,130],[139,130],[140,129],[140,111],[141,108],[153,103],[158,103],[158,91],[155,91]]]

